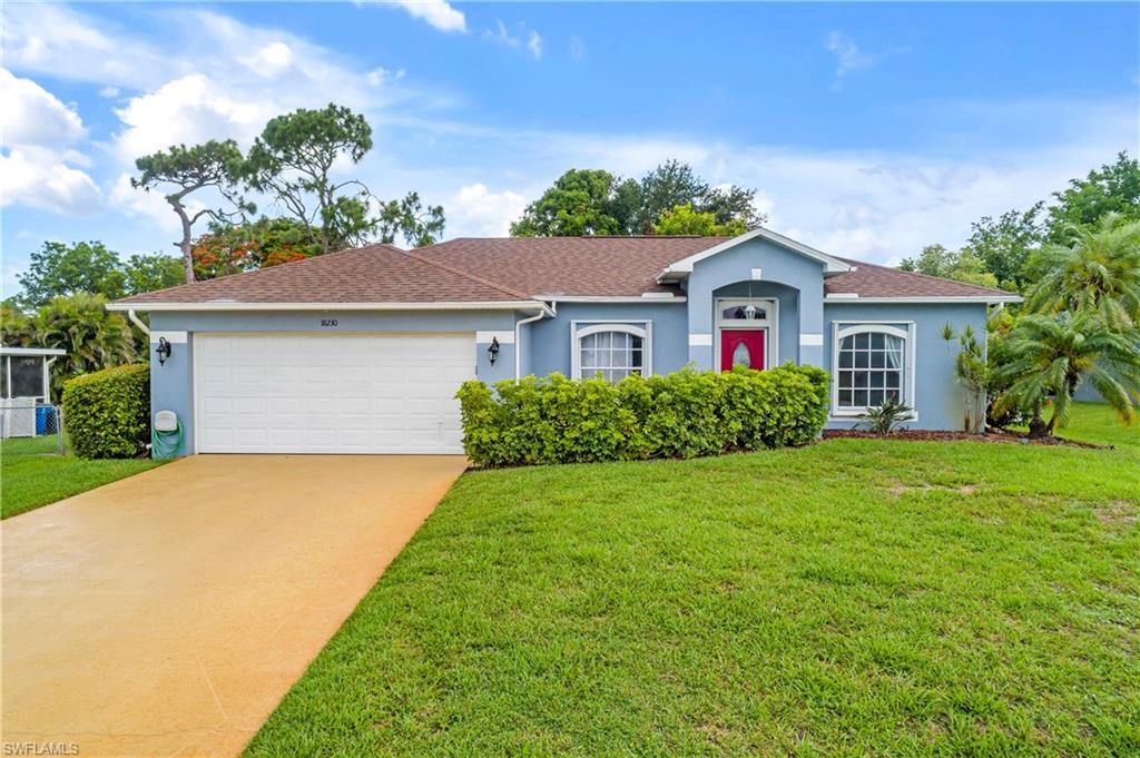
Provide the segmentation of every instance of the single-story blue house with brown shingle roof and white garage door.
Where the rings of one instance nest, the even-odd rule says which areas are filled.
[[[984,334],[1017,300],[762,228],[375,244],[111,308],[149,313],[153,411],[177,414],[184,453],[454,454],[465,380],[686,365],[821,366],[833,427],[895,396],[912,427],[961,429],[943,327]]]

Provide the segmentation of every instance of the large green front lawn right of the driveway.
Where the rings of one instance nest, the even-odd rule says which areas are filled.
[[[470,473],[253,756],[1140,752],[1140,429]]]

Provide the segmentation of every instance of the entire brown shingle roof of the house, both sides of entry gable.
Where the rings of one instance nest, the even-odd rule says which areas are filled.
[[[659,284],[670,263],[723,237],[459,238],[406,252],[367,245],[249,274],[127,298],[147,303],[441,303],[511,302],[539,296],[640,298],[681,293]],[[824,293],[860,298],[1008,298],[962,282],[846,261],[855,269],[824,279]]]

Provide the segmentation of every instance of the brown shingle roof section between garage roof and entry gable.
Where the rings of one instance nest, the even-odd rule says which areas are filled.
[[[640,298],[679,290],[657,282],[669,263],[724,237],[461,237],[416,254],[531,295]]]

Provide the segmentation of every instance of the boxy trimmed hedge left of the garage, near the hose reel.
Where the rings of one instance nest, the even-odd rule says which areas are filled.
[[[64,384],[64,429],[80,458],[137,458],[150,441],[150,366],[115,366]]]

